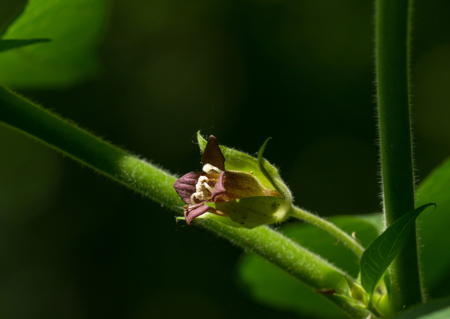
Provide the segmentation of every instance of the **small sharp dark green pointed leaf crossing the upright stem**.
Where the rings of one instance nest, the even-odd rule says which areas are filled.
[[[372,300],[375,288],[383,279],[389,265],[403,248],[408,234],[414,226],[415,219],[425,208],[431,205],[436,206],[435,204],[426,204],[407,213],[389,226],[363,252],[360,261],[361,285],[370,296],[370,300]]]

